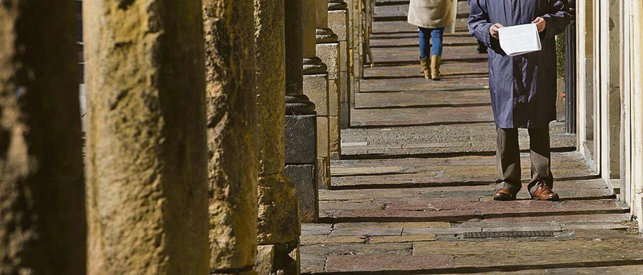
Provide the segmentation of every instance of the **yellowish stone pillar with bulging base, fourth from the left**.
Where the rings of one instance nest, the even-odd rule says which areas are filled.
[[[284,173],[284,0],[254,0],[258,117],[259,274],[298,272],[299,199]]]

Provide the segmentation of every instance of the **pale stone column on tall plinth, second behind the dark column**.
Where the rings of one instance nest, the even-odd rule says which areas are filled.
[[[340,43],[338,37],[328,28],[328,0],[316,0],[316,55],[327,65],[328,73],[328,124],[329,124],[329,157],[339,159],[341,155],[340,130]],[[320,188],[330,186],[320,182]]]

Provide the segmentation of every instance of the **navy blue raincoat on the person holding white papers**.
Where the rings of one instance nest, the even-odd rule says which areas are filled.
[[[489,91],[500,128],[543,128],[556,120],[555,36],[570,21],[567,0],[470,0],[469,31],[489,47]],[[507,56],[489,33],[495,23],[546,21],[541,51]]]

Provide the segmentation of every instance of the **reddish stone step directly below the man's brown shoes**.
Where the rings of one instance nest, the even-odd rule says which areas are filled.
[[[424,198],[420,198],[424,199]],[[320,202],[320,220],[338,222],[466,222],[487,218],[548,217],[628,213],[615,200],[561,200],[511,202],[448,199],[376,199],[372,202]]]

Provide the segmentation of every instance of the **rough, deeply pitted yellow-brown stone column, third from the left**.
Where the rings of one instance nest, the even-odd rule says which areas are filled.
[[[257,257],[253,10],[253,1],[203,0],[213,274],[253,272]]]

